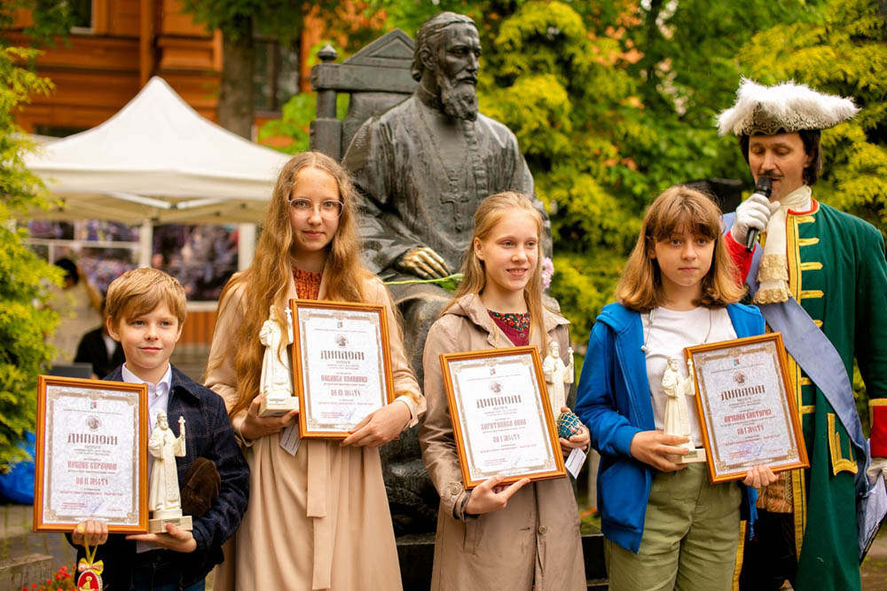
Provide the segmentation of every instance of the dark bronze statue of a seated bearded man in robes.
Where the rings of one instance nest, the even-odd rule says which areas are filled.
[[[467,16],[441,12],[426,21],[412,60],[416,91],[365,122],[343,158],[365,196],[367,264],[384,280],[458,272],[483,198],[506,190],[533,195],[514,134],[478,113],[480,54],[475,22]],[[413,367],[421,367],[428,327],[451,296],[434,285],[396,285],[391,292],[409,327]]]

